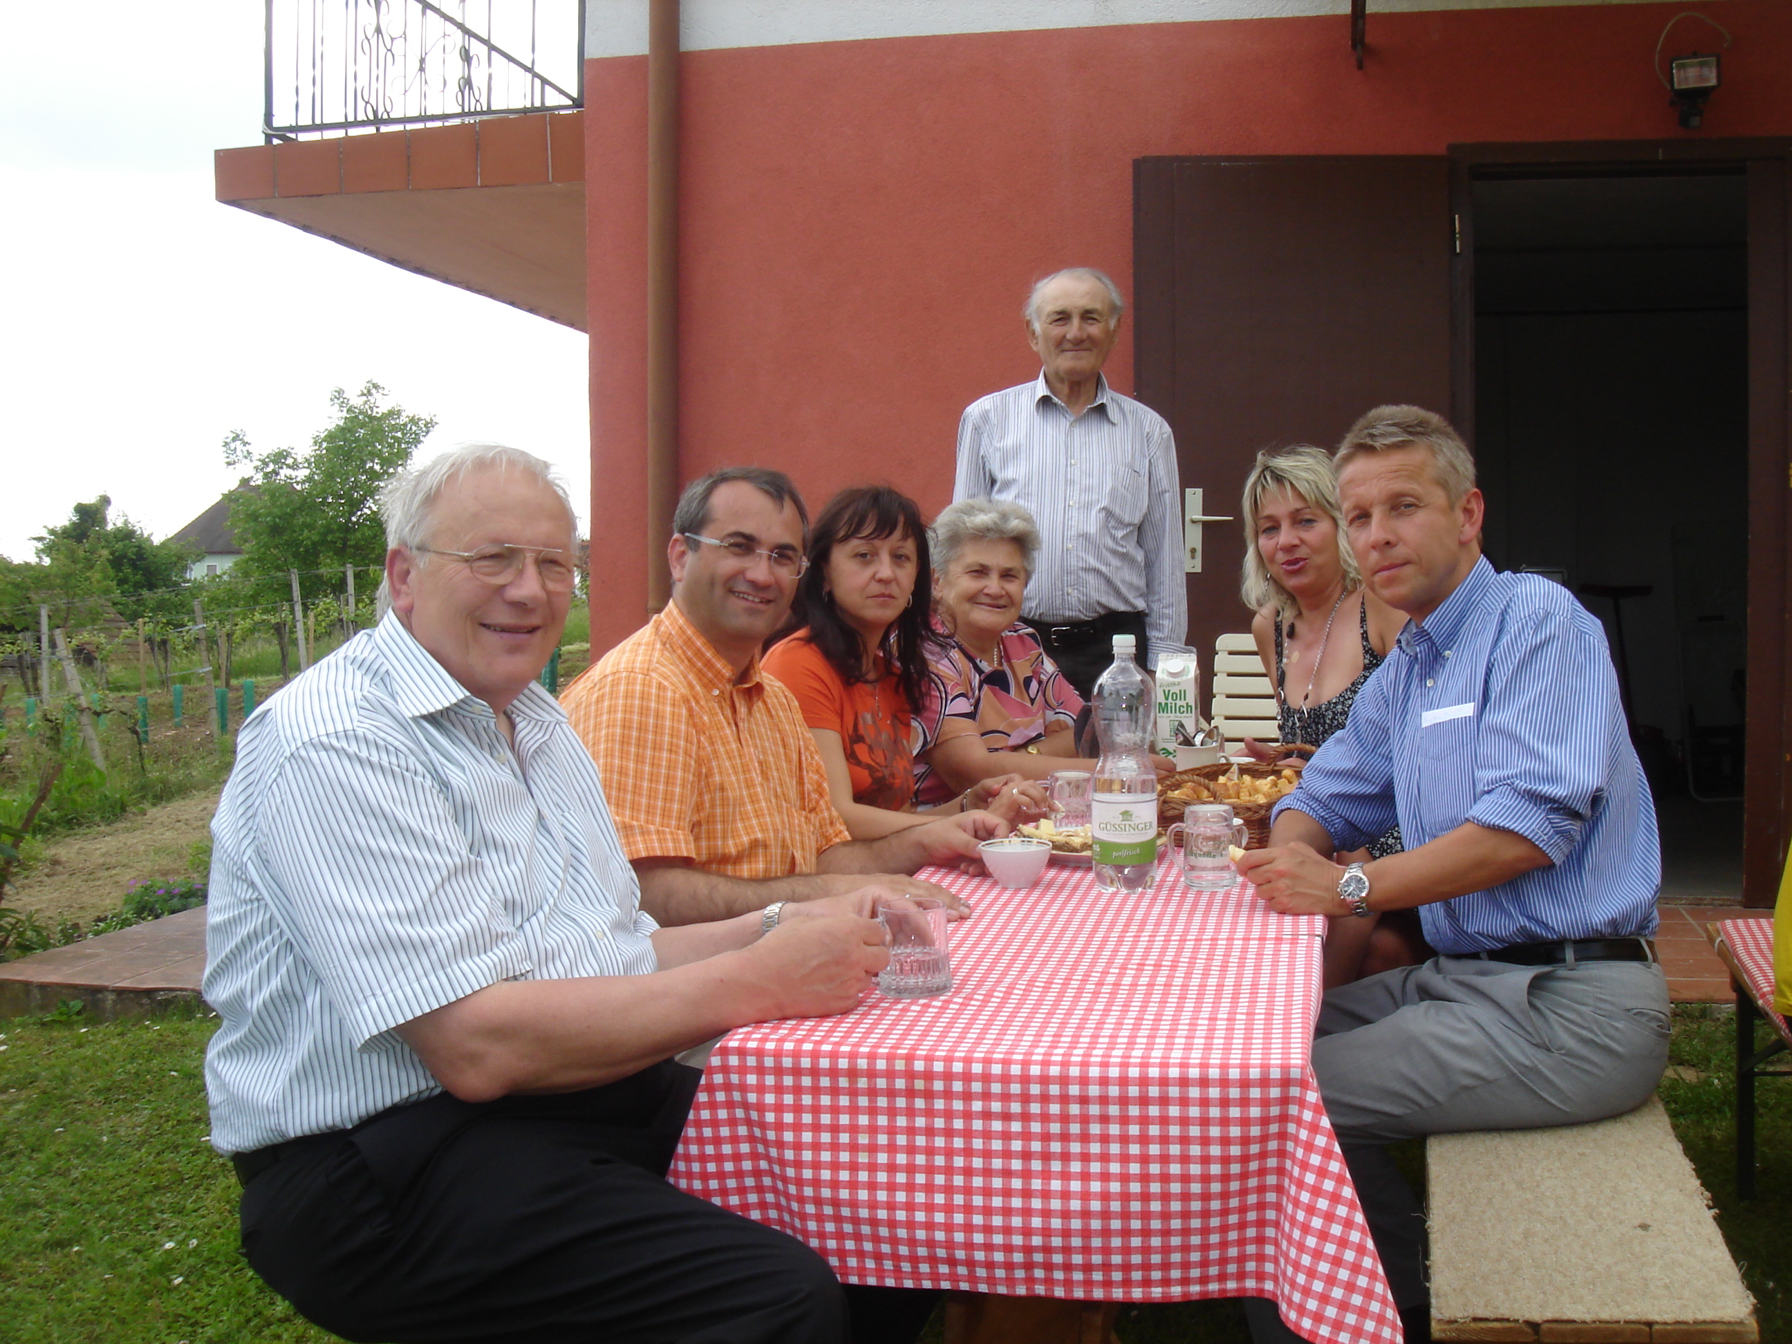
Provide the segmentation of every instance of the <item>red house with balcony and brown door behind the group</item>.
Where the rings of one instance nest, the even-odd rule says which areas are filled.
[[[588,0],[568,97],[317,116],[220,151],[217,190],[590,332],[593,649],[663,600],[670,500],[710,468],[941,507],[959,412],[1036,371],[1020,299],[1061,265],[1131,294],[1111,380],[1170,419],[1208,513],[1262,446],[1439,409],[1496,563],[1606,618],[1658,771],[1745,794],[1767,901],[1792,5],[1357,2],[1360,50],[1351,0]],[[1693,50],[1722,52],[1699,129],[1661,82]],[[1242,627],[1242,532],[1190,543],[1211,649]]]

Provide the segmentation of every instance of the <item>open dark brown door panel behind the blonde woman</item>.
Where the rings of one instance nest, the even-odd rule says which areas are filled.
[[[1134,163],[1138,396],[1176,432],[1183,486],[1236,514],[1260,448],[1331,448],[1369,407],[1450,401],[1450,159]],[[1188,575],[1202,667],[1238,600],[1244,523],[1208,523]]]

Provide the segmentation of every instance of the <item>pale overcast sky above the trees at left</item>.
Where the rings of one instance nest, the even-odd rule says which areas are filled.
[[[425,455],[511,443],[590,498],[582,333],[211,199],[260,143],[262,14],[7,7],[4,556],[100,493],[163,538],[235,484],[229,430],[305,446],[369,378],[437,418]]]

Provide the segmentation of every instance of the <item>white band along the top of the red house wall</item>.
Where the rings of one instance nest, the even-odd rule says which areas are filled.
[[[1650,0],[1577,0],[1633,5]],[[1376,14],[1437,9],[1546,9],[1563,0],[1371,0]],[[928,38],[959,32],[1097,29],[1125,23],[1202,23],[1240,18],[1348,14],[1349,0],[685,0],[688,52],[790,47],[815,41]],[[643,56],[647,0],[588,0],[584,54]]]

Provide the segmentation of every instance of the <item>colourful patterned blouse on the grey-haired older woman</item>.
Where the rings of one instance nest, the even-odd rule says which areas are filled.
[[[953,790],[921,760],[946,738],[977,733],[989,751],[1020,751],[1045,738],[1052,724],[1075,728],[1082,697],[1021,624],[996,640],[986,663],[944,631],[928,645],[926,699],[914,717],[914,801],[944,803]]]

